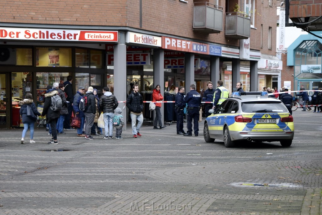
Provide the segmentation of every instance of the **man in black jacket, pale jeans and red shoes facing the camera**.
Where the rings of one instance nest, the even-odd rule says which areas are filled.
[[[141,136],[139,131],[143,124],[143,99],[139,93],[139,86],[137,84],[133,85],[132,90],[133,91],[128,95],[128,99],[126,100],[126,106],[129,111],[131,111],[133,137],[137,138],[137,136]]]

